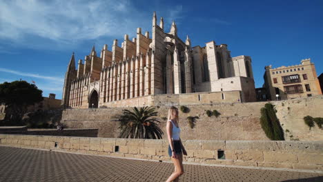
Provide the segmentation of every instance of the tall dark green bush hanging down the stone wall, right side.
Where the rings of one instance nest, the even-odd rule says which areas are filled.
[[[280,121],[277,119],[275,108],[271,103],[266,103],[264,108],[260,110],[262,116],[260,117],[260,124],[266,136],[275,141],[284,140],[284,132]]]

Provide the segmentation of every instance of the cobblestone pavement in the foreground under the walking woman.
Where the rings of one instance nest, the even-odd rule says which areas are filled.
[[[0,147],[0,181],[166,181],[172,163]],[[323,181],[323,174],[184,165],[179,181]]]

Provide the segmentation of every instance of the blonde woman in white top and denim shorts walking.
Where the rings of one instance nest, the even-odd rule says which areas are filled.
[[[166,132],[168,137],[168,155],[171,156],[175,166],[174,172],[168,177],[166,182],[178,181],[179,176],[184,174],[183,154],[187,155],[186,150],[179,137],[180,129],[178,124],[178,109],[171,107],[168,110],[168,121]]]

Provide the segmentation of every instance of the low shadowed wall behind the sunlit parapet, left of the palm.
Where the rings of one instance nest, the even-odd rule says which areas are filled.
[[[50,136],[85,136],[97,137],[97,129],[65,129],[57,131],[56,129],[28,129],[26,130],[6,130],[1,131],[1,134],[28,134],[28,135],[50,135]]]

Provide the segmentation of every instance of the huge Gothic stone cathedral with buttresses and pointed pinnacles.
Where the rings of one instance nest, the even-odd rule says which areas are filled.
[[[121,46],[115,39],[112,51],[104,45],[97,55],[93,46],[84,62],[78,61],[77,68],[72,54],[62,105],[65,108],[98,108],[111,103],[136,106],[138,103],[132,103],[134,98],[213,92],[222,92],[222,99],[225,92],[235,92],[237,101],[255,101],[251,57],[231,57],[227,45],[216,45],[215,41],[204,47],[192,47],[188,36],[185,41],[177,37],[175,22],[169,32],[164,30],[162,17],[157,25],[154,12],[151,38],[149,32],[142,34],[141,28],[137,28],[137,37],[130,40],[126,34]],[[149,105],[143,102],[142,105]]]

